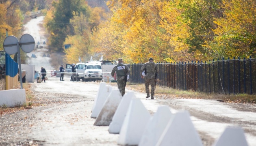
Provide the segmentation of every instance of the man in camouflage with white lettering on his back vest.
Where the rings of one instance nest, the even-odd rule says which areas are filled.
[[[118,64],[113,68],[111,75],[114,77],[116,72],[117,75],[117,86],[122,96],[125,93],[125,86],[127,82],[127,75],[130,73],[130,69],[126,64],[123,64],[123,59],[118,59]]]

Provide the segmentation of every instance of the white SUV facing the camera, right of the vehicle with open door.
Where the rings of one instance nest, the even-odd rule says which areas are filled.
[[[101,62],[89,62],[86,63],[86,69],[84,72],[84,81],[96,81],[102,80],[102,68]]]

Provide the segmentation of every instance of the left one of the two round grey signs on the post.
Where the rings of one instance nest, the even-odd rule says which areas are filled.
[[[15,54],[18,51],[17,49],[18,42],[19,40],[15,36],[7,36],[4,39],[4,51],[9,55]]]

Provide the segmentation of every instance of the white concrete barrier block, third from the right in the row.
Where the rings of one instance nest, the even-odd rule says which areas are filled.
[[[155,146],[172,116],[168,106],[158,107],[143,132],[139,146]]]

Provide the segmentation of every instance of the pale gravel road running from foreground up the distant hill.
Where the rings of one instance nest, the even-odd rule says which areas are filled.
[[[43,17],[32,19],[28,26],[39,25]],[[37,20],[37,21],[34,21]],[[32,24],[30,24],[32,23]],[[32,27],[33,28],[33,27]],[[34,27],[36,28],[36,27]],[[29,32],[43,35],[37,30]],[[37,41],[37,39],[36,39]],[[31,58],[35,69],[44,66],[51,69],[49,59],[41,58],[46,49],[34,52]],[[30,53],[30,55],[31,55]],[[90,118],[99,83],[65,81],[48,74],[46,83],[31,83],[31,90],[41,106],[0,116],[0,146],[117,146],[118,134],[108,133],[108,126],[93,126],[95,119]],[[115,85],[112,84],[114,88]],[[126,90],[131,92],[131,90]],[[137,93],[143,105],[153,115],[161,105],[168,105],[172,113],[188,110],[204,146],[211,146],[226,127],[242,127],[249,146],[256,146],[256,106],[255,104],[223,103],[203,99],[145,99],[146,94]]]

